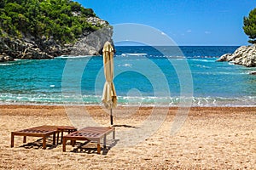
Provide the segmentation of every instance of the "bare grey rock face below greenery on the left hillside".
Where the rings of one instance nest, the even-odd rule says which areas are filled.
[[[86,30],[77,42],[61,44],[53,37],[22,38],[0,37],[0,62],[13,59],[53,59],[61,55],[97,55],[101,54],[104,42],[112,42],[113,29],[108,22],[90,17],[92,26],[100,26],[97,31]]]

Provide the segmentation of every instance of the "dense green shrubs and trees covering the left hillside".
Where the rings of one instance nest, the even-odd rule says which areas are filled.
[[[85,30],[94,31],[87,18],[96,14],[71,0],[1,0],[0,37],[33,36],[73,42]]]

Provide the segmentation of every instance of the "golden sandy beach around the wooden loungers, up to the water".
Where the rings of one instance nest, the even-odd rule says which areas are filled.
[[[154,108],[162,114],[166,108]],[[15,137],[10,148],[12,131],[40,125],[73,125],[67,110],[88,111],[101,126],[109,125],[109,115],[100,106],[0,105],[0,169],[255,169],[256,107],[193,107],[177,133],[170,128],[177,108],[167,108],[160,127],[136,144],[137,135],[129,135],[131,144],[119,146],[119,138],[129,130],[140,129],[148,122],[152,107],[118,107],[114,112],[116,140],[108,138],[110,148],[96,154],[96,144],[74,148],[51,145],[46,150],[42,140]],[[125,115],[126,114],[126,115]],[[69,118],[68,118],[69,117]],[[76,120],[77,121],[77,120]],[[157,122],[158,120],[156,120]],[[150,128],[150,127],[149,127]],[[148,131],[145,133],[148,133]],[[120,142],[121,143],[121,142]],[[79,144],[79,143],[78,143]]]

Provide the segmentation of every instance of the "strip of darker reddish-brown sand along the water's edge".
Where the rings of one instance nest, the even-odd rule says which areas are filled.
[[[204,112],[205,114],[217,113],[220,115],[224,114],[225,112],[230,114],[248,113],[256,116],[256,106],[248,106],[248,107],[244,107],[244,106],[238,106],[238,107],[235,107],[235,106],[233,107],[226,107],[226,106],[225,107],[221,107],[221,106],[219,107],[215,107],[215,106],[193,106],[193,107],[117,106],[117,108],[113,109],[113,116],[119,117],[119,114],[121,115],[120,118],[125,118],[126,117],[124,116],[125,114],[128,114],[128,116],[134,116],[134,114],[137,116],[141,116],[140,111],[147,112],[146,115],[149,116],[153,110],[159,112],[160,115],[162,115],[162,113],[166,113],[166,111],[167,111],[166,116],[168,116],[170,113],[172,113],[172,115],[177,115],[177,111],[179,108],[183,108],[183,111],[185,111],[184,113],[187,116],[190,116],[191,114],[198,115],[199,113],[201,114],[201,112]],[[104,114],[109,114],[109,111],[103,105],[0,105],[0,116],[1,115],[19,116],[20,112],[22,112],[23,115],[25,113],[26,116],[37,115],[36,112],[32,112],[32,111],[38,111],[40,113],[46,111],[48,112],[46,115],[49,115],[49,116],[54,115],[53,114],[54,111],[57,111],[58,113],[61,113],[61,115],[64,115],[64,116],[68,116],[69,111],[78,111],[79,113],[81,113],[81,111],[87,111],[88,113],[90,113],[91,116],[96,116],[96,112],[99,113],[100,116]]]

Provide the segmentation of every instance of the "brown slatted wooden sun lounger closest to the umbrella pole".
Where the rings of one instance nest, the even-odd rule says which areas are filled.
[[[87,140],[97,142],[97,153],[101,153],[101,139],[103,138],[103,145],[106,147],[106,139],[109,133],[113,133],[113,139],[115,135],[114,127],[84,127],[79,131],[69,133],[63,136],[62,150],[66,151],[67,140],[71,140],[74,145],[76,140]]]

